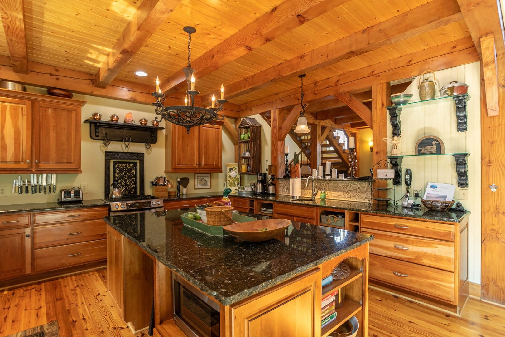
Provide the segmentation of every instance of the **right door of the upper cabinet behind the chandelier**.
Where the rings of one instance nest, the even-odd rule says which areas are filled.
[[[222,172],[221,169],[221,126],[201,125],[199,170],[200,172]]]

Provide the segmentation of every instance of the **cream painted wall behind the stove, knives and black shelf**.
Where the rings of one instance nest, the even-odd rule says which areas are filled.
[[[45,89],[28,87],[28,91],[45,94]],[[155,117],[152,106],[138,104],[134,102],[116,101],[104,98],[97,98],[88,95],[75,94],[74,99],[86,101],[86,105],[82,108],[82,121],[91,116],[94,112],[102,114],[103,119],[108,119],[108,116],[117,114],[120,120],[123,120],[127,112],[133,113],[136,121],[145,117],[149,121]],[[160,124],[163,126],[163,122]],[[105,151],[125,151],[125,152],[141,152],[144,153],[145,181],[144,188],[146,194],[152,194],[149,180],[156,176],[165,176],[165,130],[158,131],[158,142],[146,150],[143,143],[131,143],[127,150],[122,142],[113,141],[108,148],[105,148],[101,141],[92,140],[89,137],[89,124],[82,123],[81,125],[81,174],[57,174],[57,191],[61,188],[70,188],[80,186],[82,183],[88,184],[88,192],[84,194],[84,199],[100,199],[104,197],[104,174],[105,174]],[[222,135],[222,162],[231,162],[234,159],[234,147],[231,140],[223,132]],[[167,177],[171,182],[175,182],[177,177],[187,176],[189,178],[188,193],[194,191],[194,173],[184,174],[169,174]],[[31,195],[11,194],[12,182],[18,175],[2,174],[0,175],[0,186],[6,185],[8,196],[0,198],[0,205],[23,204],[23,203],[41,203],[57,201],[57,194],[47,195]],[[22,175],[23,180],[30,179],[29,174]],[[222,191],[223,181],[226,180],[226,174],[212,173],[211,189],[199,189],[197,192],[207,191]],[[176,184],[174,184],[175,186]]]

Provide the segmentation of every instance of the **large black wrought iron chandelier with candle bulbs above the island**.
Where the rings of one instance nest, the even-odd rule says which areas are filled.
[[[187,133],[189,129],[193,126],[203,125],[210,123],[215,125],[215,120],[223,120],[224,115],[218,116],[218,112],[223,110],[223,104],[228,102],[224,99],[224,87],[221,85],[221,99],[216,100],[214,95],[212,95],[212,106],[203,108],[194,106],[194,97],[199,94],[199,91],[194,89],[194,72],[195,70],[191,68],[191,34],[196,32],[193,27],[184,27],[186,33],[188,33],[188,65],[182,71],[186,74],[186,81],[188,83],[187,95],[184,99],[183,106],[169,106],[165,107],[165,94],[160,90],[160,81],[158,77],[156,78],[156,92],[152,95],[156,98],[156,103],[153,105],[156,107],[155,112],[158,116],[161,116],[158,120],[158,116],[155,117],[157,122],[163,119],[186,128]],[[217,106],[215,105],[217,103]]]

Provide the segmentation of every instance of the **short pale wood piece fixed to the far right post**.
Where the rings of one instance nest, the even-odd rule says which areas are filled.
[[[493,33],[480,37],[484,84],[486,88],[487,116],[498,116],[498,74]]]

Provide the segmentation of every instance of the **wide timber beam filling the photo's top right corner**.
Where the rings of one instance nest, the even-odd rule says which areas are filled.
[[[503,18],[499,1],[497,0],[457,0],[461,13],[467,23],[468,30],[481,54],[480,37],[489,33],[494,34],[494,44],[498,55],[505,54],[503,36]]]

